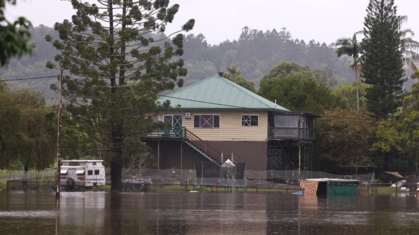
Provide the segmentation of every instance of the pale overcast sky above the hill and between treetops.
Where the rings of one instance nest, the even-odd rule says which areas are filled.
[[[17,0],[6,7],[6,17],[24,16],[34,26],[52,26],[71,19],[75,13],[69,1]],[[94,0],[88,0],[94,2]],[[369,0],[171,0],[179,12],[167,33],[195,19],[192,34],[202,33],[210,44],[237,39],[244,26],[266,30],[287,28],[293,38],[330,44],[339,37],[352,36],[363,28]],[[411,28],[419,34],[419,0],[395,0],[399,15],[407,15]],[[415,37],[418,40],[418,36]]]

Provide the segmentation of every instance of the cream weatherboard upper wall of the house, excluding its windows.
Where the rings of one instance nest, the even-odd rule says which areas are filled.
[[[185,119],[185,112],[191,113],[190,119]],[[247,110],[216,110],[216,111],[184,111],[169,112],[168,115],[182,115],[182,126],[206,141],[267,141],[268,112]],[[194,115],[219,114],[220,128],[194,128]],[[258,126],[242,126],[242,115],[259,115]],[[163,121],[163,114],[156,117]]]

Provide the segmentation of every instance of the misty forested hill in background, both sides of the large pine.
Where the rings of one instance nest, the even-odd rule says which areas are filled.
[[[58,54],[51,44],[45,41],[46,34],[58,39],[58,34],[49,27],[35,27],[32,30],[31,41],[35,43],[35,55],[11,61],[8,68],[0,69],[0,77],[5,80],[28,77],[50,76],[58,74],[58,70],[45,67],[48,60],[53,61]],[[160,37],[161,35],[149,35]],[[259,86],[259,79],[269,69],[280,61],[295,61],[302,66],[308,66],[312,70],[333,69],[338,84],[355,80],[355,74],[348,69],[347,58],[337,58],[334,44],[327,45],[314,39],[305,42],[297,38],[293,39],[290,32],[285,28],[281,31],[258,31],[243,28],[237,40],[223,41],[219,45],[210,45],[203,34],[185,35],[184,55],[185,67],[188,74],[184,78],[184,86],[191,85],[205,79],[218,71],[225,71],[225,67],[235,66],[242,71],[242,75]],[[412,71],[406,71],[409,75]],[[44,90],[49,102],[56,101],[56,94],[49,89],[52,83],[57,83],[56,78],[44,78],[25,81],[10,81],[12,90],[31,88]],[[405,86],[411,88],[411,84]]]

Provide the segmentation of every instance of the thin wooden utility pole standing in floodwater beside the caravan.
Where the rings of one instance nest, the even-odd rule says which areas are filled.
[[[57,134],[57,192],[56,198],[60,198],[61,184],[61,118],[63,116],[63,69],[60,68],[60,98],[58,100],[58,134]]]

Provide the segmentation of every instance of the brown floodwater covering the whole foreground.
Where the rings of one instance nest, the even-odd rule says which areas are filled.
[[[0,235],[419,234],[416,197],[0,192]]]

